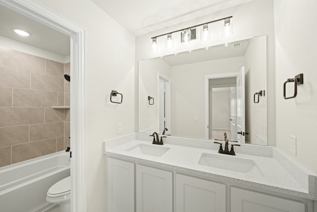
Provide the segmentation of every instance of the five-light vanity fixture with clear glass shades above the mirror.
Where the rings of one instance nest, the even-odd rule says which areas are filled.
[[[199,27],[199,26],[201,27],[201,34],[200,34],[201,40],[202,41],[210,40],[210,38],[211,38],[211,23],[218,22],[218,21],[224,21],[222,34],[221,34],[222,37],[228,37],[228,36],[233,34],[233,31],[232,31],[232,16],[229,16],[229,17],[220,18],[220,19],[217,19],[217,20],[209,21],[207,23],[198,24],[198,25],[195,25],[195,26],[187,27],[187,28],[184,28],[184,29],[179,29],[179,30],[176,30],[176,31],[173,31],[173,32],[168,32],[168,33],[165,33],[165,34],[162,34],[162,35],[158,35],[158,36],[152,37],[151,38],[151,40],[152,40],[152,42],[151,42],[151,50],[153,52],[159,51],[158,50],[158,40],[157,40],[157,38],[161,37],[161,36],[166,36],[166,38],[165,38],[165,47],[166,48],[174,47],[173,37],[172,37],[173,35],[172,34],[175,33],[175,32],[181,32],[181,44],[189,45],[191,40],[196,39],[196,28]]]

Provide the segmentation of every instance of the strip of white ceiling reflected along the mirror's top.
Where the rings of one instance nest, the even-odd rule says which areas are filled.
[[[250,44],[250,40],[242,40],[229,43],[228,46],[218,45],[206,50],[198,49],[192,52],[183,52],[177,55],[167,55],[162,59],[169,66],[180,66],[192,63],[221,60],[226,58],[242,57],[245,55]]]

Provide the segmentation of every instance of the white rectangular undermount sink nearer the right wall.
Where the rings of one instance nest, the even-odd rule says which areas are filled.
[[[254,160],[235,156],[202,153],[198,164],[235,172],[263,175]]]

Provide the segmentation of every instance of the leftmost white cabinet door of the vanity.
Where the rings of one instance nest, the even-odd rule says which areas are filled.
[[[134,163],[107,158],[107,212],[134,212]]]

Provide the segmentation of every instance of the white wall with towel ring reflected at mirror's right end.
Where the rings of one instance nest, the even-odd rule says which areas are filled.
[[[257,143],[256,136],[266,141],[266,97],[271,95],[266,89],[266,38],[251,39],[245,58],[245,105],[246,129],[249,135],[246,141]],[[259,97],[259,103],[254,103],[254,94],[260,90],[265,96]],[[256,96],[256,101],[258,97]],[[264,144],[258,143],[258,144]]]

